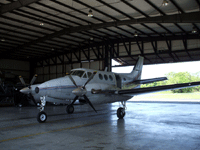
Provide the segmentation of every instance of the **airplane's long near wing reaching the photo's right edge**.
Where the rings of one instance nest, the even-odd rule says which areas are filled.
[[[142,94],[147,94],[147,93],[194,87],[198,85],[200,85],[200,82],[181,83],[181,84],[173,84],[173,85],[148,87],[148,88],[118,90],[118,91],[115,91],[115,94],[136,96],[136,95],[142,95]]]

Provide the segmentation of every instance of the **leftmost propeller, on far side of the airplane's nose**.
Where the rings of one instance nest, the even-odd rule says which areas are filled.
[[[36,80],[36,78],[37,78],[37,74],[35,74],[34,76],[33,76],[33,78],[32,78],[32,80],[31,80],[31,82],[30,82],[30,84],[28,85],[28,87],[27,88],[24,88],[24,89],[22,89],[22,90],[20,90],[22,93],[26,93],[27,92],[27,90],[30,90],[31,89],[31,85],[33,85],[33,83],[35,82],[35,80]],[[26,86],[27,84],[25,83],[25,81],[24,81],[24,79],[23,79],[23,77],[22,76],[19,76],[19,79],[20,79],[20,81],[21,81],[21,83],[24,85],[24,86]],[[27,93],[26,93],[27,94]],[[31,99],[32,101],[33,101],[33,103],[37,106],[37,103],[36,103],[36,101],[35,101],[35,99],[34,99],[34,97],[33,97],[33,95],[29,92],[28,93],[28,95],[27,95],[27,97],[29,98],[29,99]]]

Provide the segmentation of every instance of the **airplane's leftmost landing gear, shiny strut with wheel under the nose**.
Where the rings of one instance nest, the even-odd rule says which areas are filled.
[[[40,97],[40,112],[37,115],[37,121],[39,123],[44,123],[47,120],[47,114],[44,112],[44,106],[46,105],[45,96]]]

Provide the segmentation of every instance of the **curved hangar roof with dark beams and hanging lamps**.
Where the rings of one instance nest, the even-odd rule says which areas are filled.
[[[170,49],[171,40],[182,40],[185,55],[200,60],[200,44],[192,49],[198,55],[194,59],[187,47],[188,39],[200,38],[199,0],[168,2],[164,6],[163,0],[1,1],[0,58],[41,60],[105,40],[123,43],[131,39],[140,50],[141,42],[152,43],[154,53],[154,41],[166,41]],[[88,17],[89,11],[93,17]],[[178,53],[170,55],[178,58]],[[115,59],[132,64],[131,57]]]

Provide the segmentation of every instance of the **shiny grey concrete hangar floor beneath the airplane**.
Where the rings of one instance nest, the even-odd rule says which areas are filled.
[[[46,123],[36,120],[35,107],[0,108],[1,150],[200,150],[200,104],[127,102],[118,120],[118,103],[47,106]]]

